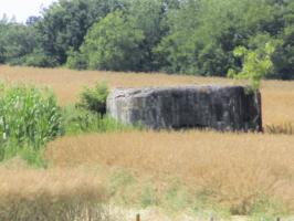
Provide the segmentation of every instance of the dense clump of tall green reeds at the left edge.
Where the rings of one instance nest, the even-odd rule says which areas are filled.
[[[14,157],[24,148],[27,154],[39,152],[45,143],[63,133],[61,114],[55,96],[48,90],[2,85],[0,160]]]

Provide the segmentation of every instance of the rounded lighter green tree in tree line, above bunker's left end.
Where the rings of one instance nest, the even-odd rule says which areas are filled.
[[[90,69],[139,71],[143,40],[136,20],[116,11],[91,28],[81,52],[87,57]]]

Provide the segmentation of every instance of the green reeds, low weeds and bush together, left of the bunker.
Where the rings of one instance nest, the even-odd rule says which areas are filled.
[[[57,136],[130,128],[105,115],[107,94],[106,84],[96,84],[81,93],[74,107],[60,107],[50,90],[2,84],[0,161],[19,156],[30,165],[43,167],[43,147]]]

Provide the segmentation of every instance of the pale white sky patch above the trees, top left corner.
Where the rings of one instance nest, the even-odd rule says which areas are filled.
[[[6,13],[15,17],[18,22],[25,22],[30,15],[40,15],[41,8],[46,8],[57,0],[0,0],[0,18]]]

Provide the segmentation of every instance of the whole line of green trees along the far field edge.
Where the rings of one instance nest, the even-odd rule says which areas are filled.
[[[60,0],[25,24],[0,20],[0,63],[225,76],[234,50],[262,54],[269,77],[294,78],[293,0]]]

